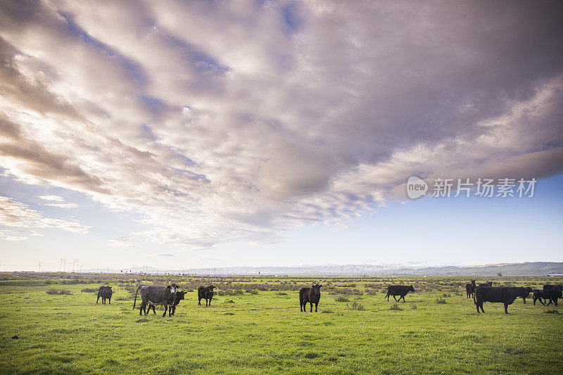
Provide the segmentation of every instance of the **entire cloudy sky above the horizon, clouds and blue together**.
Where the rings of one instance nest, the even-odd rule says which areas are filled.
[[[0,270],[562,262],[562,18],[1,1]]]

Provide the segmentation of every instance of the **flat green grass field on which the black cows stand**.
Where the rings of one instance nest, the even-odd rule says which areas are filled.
[[[0,278],[0,374],[563,373],[557,308],[519,298],[508,315],[498,303],[477,314],[465,297],[466,278]],[[486,280],[562,283],[477,281]],[[137,285],[167,281],[189,291],[174,317],[132,310]],[[319,312],[300,312],[298,289],[317,281],[323,284]],[[102,284],[113,286],[111,305],[96,305],[96,293],[82,291]],[[197,305],[196,286],[208,284],[219,295],[211,307]],[[417,293],[391,310],[393,298],[387,302],[381,293],[387,284],[413,284]],[[50,289],[72,294],[47,294]],[[363,310],[352,310],[353,303]]]

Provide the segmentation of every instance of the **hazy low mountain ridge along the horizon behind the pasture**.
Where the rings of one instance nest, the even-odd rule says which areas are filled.
[[[146,274],[196,274],[196,275],[251,275],[251,276],[545,276],[563,274],[563,262],[498,263],[477,266],[412,267],[405,265],[317,265],[299,267],[210,267],[184,269],[158,269],[154,267],[130,267],[124,269],[84,269],[83,273]]]

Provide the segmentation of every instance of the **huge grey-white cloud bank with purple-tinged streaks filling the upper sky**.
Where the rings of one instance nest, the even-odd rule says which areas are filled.
[[[110,246],[185,249],[341,224],[411,175],[562,170],[557,12],[288,4],[4,2],[4,169],[152,227]]]

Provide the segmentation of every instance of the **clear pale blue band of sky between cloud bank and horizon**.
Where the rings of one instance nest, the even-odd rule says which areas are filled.
[[[391,202],[346,225],[315,225],[284,234],[278,243],[227,243],[210,250],[174,246],[116,250],[108,241],[141,230],[135,215],[110,212],[81,194],[30,189],[4,181],[1,191],[49,217],[68,218],[67,209],[42,206],[37,196],[65,196],[78,203],[75,218],[91,227],[84,238],[61,229],[39,230],[27,241],[6,241],[1,269],[34,270],[42,263],[58,270],[60,260],[80,259],[83,267],[196,267],[396,264],[483,265],[501,262],[563,262],[563,174],[543,179],[533,198],[421,198]],[[138,218],[138,217],[137,217]],[[25,254],[25,257],[22,255]],[[160,256],[155,256],[160,254]]]

